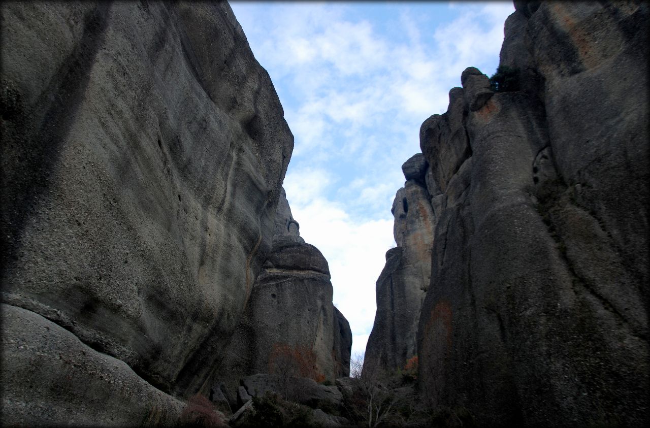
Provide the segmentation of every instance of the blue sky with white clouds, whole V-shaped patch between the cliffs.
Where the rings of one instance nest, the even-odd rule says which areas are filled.
[[[284,186],[300,234],[330,264],[334,304],[363,353],[391,206],[419,129],[463,69],[492,75],[512,1],[230,2],[295,137]]]

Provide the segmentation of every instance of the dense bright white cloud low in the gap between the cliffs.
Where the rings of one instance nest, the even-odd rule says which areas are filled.
[[[350,322],[352,333],[363,336],[372,329],[375,283],[385,252],[395,243],[393,218],[390,212],[389,218],[380,220],[352,218],[343,204],[324,197],[325,186],[317,184],[323,178],[315,170],[288,174],[287,199],[300,223],[300,236],[328,260],[335,305]]]

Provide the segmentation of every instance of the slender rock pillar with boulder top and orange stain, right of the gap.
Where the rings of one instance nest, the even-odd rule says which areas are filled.
[[[377,312],[366,346],[363,370],[403,368],[417,354],[416,333],[431,276],[434,212],[426,190],[422,153],[402,166],[407,181],[393,202],[396,248],[386,253],[377,280]]]

